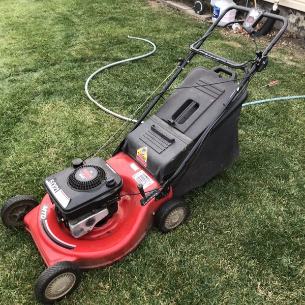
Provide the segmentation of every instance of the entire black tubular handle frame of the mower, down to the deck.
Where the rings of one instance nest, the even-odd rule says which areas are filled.
[[[207,30],[207,32],[204,34],[204,36],[190,44],[189,48],[191,52],[187,56],[187,58],[184,60],[184,62],[181,63],[178,70],[175,72],[175,74],[171,77],[171,79],[165,84],[165,86],[162,88],[161,92],[156,96],[154,101],[147,107],[147,109],[144,111],[144,113],[141,115],[141,117],[138,119],[137,123],[131,128],[129,133],[131,133],[133,130],[135,130],[143,121],[143,119],[147,116],[147,114],[155,107],[155,105],[158,103],[158,101],[162,98],[166,90],[171,86],[171,84],[175,81],[175,79],[178,77],[178,75],[182,72],[182,70],[185,69],[185,67],[190,63],[191,59],[196,55],[199,54],[201,56],[204,56],[206,58],[212,59],[222,65],[228,66],[230,68],[234,69],[241,69],[243,72],[245,72],[245,76],[241,79],[241,81],[237,84],[234,92],[231,94],[227,102],[223,105],[223,107],[220,109],[220,111],[217,113],[217,115],[214,117],[214,119],[211,120],[211,123],[208,125],[208,127],[205,129],[205,131],[202,133],[198,141],[195,143],[193,148],[191,149],[190,153],[187,155],[184,162],[180,164],[178,169],[175,171],[175,173],[165,182],[163,188],[159,192],[159,194],[156,196],[156,199],[161,199],[168,195],[170,186],[174,184],[175,181],[179,179],[181,175],[183,175],[185,168],[191,164],[192,160],[196,156],[197,150],[200,148],[203,141],[207,138],[212,128],[217,124],[217,122],[220,120],[220,118],[223,116],[223,114],[226,112],[228,107],[230,106],[231,102],[240,94],[242,91],[242,88],[250,81],[251,77],[256,73],[262,71],[268,63],[268,57],[267,54],[270,52],[270,50],[273,48],[273,46],[277,43],[277,41],[280,39],[280,37],[285,32],[288,22],[285,17],[271,14],[264,12],[262,17],[267,18],[273,18],[279,21],[283,22],[283,26],[280,29],[279,33],[273,38],[273,40],[269,43],[269,45],[264,49],[262,52],[256,52],[256,57],[251,60],[244,63],[235,63],[232,60],[229,60],[227,58],[221,57],[217,54],[211,53],[209,51],[200,49],[203,42],[207,39],[207,37],[214,31],[214,29],[217,27],[220,20],[223,18],[223,16],[230,10],[238,10],[242,12],[249,12],[251,8],[241,7],[241,6],[231,6],[227,8],[216,20],[214,24],[210,26],[210,28]],[[248,70],[249,63],[251,63],[250,70]],[[120,142],[118,147],[115,149],[113,156],[118,154],[121,151],[121,148],[124,145],[126,137]]]

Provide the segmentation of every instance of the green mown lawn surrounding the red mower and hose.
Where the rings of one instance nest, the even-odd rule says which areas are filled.
[[[92,153],[122,124],[87,100],[84,83],[99,67],[150,49],[127,35],[152,40],[157,52],[105,71],[90,92],[130,115],[208,26],[144,0],[2,0],[1,204],[15,194],[41,200],[45,177]],[[219,30],[206,47],[240,62],[254,51],[250,40]],[[305,94],[304,52],[290,56],[290,49],[274,50],[248,101]],[[201,58],[196,65],[211,67]],[[280,85],[261,89],[275,79]],[[244,108],[241,154],[186,196],[188,221],[169,234],[153,229],[125,259],[83,273],[62,303],[305,303],[304,102]],[[34,304],[45,269],[34,241],[2,224],[0,238],[0,303]]]

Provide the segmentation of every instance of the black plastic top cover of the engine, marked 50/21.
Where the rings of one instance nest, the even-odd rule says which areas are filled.
[[[102,158],[93,158],[47,177],[44,185],[60,214],[70,221],[113,204],[123,180]]]

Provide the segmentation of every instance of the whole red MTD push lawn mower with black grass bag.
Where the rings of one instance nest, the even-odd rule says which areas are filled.
[[[279,33],[254,59],[235,63],[206,51],[203,42],[229,10],[247,12],[243,28],[254,37],[263,18],[283,23]],[[93,157],[44,181],[47,194],[38,202],[15,196],[1,210],[7,227],[25,224],[48,268],[38,277],[35,294],[53,303],[71,293],[80,269],[104,267],[133,251],[155,224],[169,232],[188,217],[182,196],[227,168],[239,154],[238,118],[247,84],[266,68],[267,54],[287,27],[287,20],[259,9],[227,8],[205,35],[192,43],[186,59],[105,161]],[[194,68],[161,107],[144,118],[195,55],[221,64]],[[240,69],[238,78],[231,69]],[[239,70],[238,70],[239,71]],[[131,123],[131,122],[129,122]]]

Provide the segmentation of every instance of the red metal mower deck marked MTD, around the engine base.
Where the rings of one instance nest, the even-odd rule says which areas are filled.
[[[138,170],[130,166],[135,163],[124,153],[119,153],[107,163],[124,181],[123,194],[138,193],[138,182],[132,177],[144,172],[153,180],[146,191],[160,187],[148,172],[137,164]],[[107,266],[133,251],[154,224],[154,212],[166,201],[172,199],[172,191],[166,198],[151,199],[146,205],[140,204],[141,195],[124,196],[118,202],[118,211],[105,225],[95,227],[88,234],[76,239],[55,216],[55,206],[49,195],[25,218],[25,228],[31,233],[41,256],[49,267],[59,261],[72,261],[79,268],[91,269]]]

